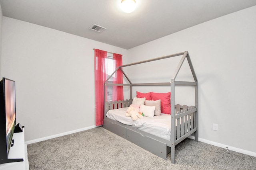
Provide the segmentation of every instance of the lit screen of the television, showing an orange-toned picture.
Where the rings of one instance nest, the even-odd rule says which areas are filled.
[[[4,80],[4,99],[5,99],[5,114],[6,114],[6,143],[7,152],[10,150],[12,136],[16,125],[16,108],[15,108],[15,82]]]

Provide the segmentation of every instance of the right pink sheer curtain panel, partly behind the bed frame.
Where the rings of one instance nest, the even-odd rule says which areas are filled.
[[[113,54],[113,60],[114,60],[114,70],[118,68],[118,66],[122,66],[122,55],[120,54]],[[117,70],[117,72],[114,74],[113,78],[114,84],[123,84],[123,73],[120,69]],[[113,86],[113,92],[112,92],[112,100],[124,100],[124,92],[123,92],[123,86]]]

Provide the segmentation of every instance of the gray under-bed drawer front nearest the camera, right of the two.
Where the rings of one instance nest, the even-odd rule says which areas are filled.
[[[128,128],[126,129],[126,139],[165,160],[167,159],[167,145],[165,143]]]

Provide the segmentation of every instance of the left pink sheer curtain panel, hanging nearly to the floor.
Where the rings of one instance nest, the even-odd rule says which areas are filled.
[[[104,119],[104,82],[107,79],[105,64],[106,58],[106,51],[94,49],[96,126],[103,125]]]

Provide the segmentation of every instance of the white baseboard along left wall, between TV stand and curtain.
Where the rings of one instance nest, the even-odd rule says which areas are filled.
[[[48,136],[48,137],[42,137],[42,138],[39,138],[39,139],[34,139],[34,140],[31,140],[31,141],[25,141],[25,144],[28,145],[28,144],[31,144],[31,143],[37,143],[37,142],[45,141],[45,140],[48,140],[48,139],[53,139],[53,138],[56,138],[56,137],[61,137],[61,136],[64,136],[64,135],[69,135],[69,134],[77,133],[77,132],[80,132],[80,131],[85,131],[85,130],[88,130],[88,129],[92,129],[94,127],[97,127],[97,126],[94,125],[94,126],[84,127],[84,128],[81,128],[81,129],[76,129],[74,131],[68,131],[68,132],[59,133],[59,134],[56,134],[56,135],[51,135],[51,136]]]

